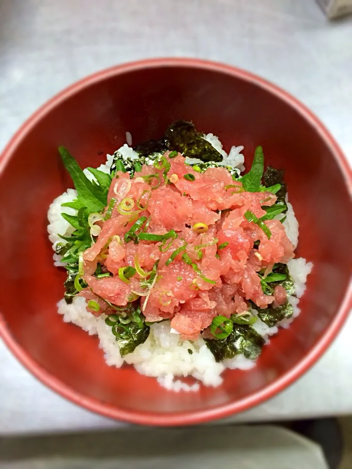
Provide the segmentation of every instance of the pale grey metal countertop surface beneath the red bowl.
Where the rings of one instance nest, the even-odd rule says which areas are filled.
[[[271,80],[327,125],[352,162],[352,21],[314,0],[2,0],[0,149],[54,93],[98,69],[156,56],[233,64]],[[352,317],[301,380],[231,421],[352,412]],[[123,426],[37,382],[0,342],[0,432]]]

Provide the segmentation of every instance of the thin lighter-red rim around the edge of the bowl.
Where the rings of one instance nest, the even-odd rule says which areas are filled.
[[[82,89],[93,85],[101,80],[109,79],[112,76],[129,73],[146,68],[156,67],[189,67],[205,69],[213,72],[219,72],[239,78],[243,81],[264,88],[267,92],[275,95],[277,98],[285,101],[286,104],[294,108],[301,116],[308,121],[320,138],[330,148],[340,170],[345,178],[346,186],[352,197],[352,170],[349,163],[340,149],[329,130],[322,122],[298,99],[290,95],[279,86],[241,68],[232,65],[221,64],[207,60],[195,58],[157,58],[146,59],[125,64],[119,64],[95,72],[87,77],[67,86],[65,89],[54,95],[37,111],[35,111],[17,130],[9,143],[3,149],[0,155],[0,174],[4,170],[7,162],[10,160],[12,153],[20,145],[23,138],[34,128],[37,123],[43,119],[53,108],[60,105],[72,95]],[[352,281],[347,288],[345,297],[343,298],[335,318],[331,321],[326,332],[320,337],[316,344],[310,349],[308,354],[295,366],[289,369],[281,378],[273,383],[265,386],[258,392],[254,392],[245,398],[234,403],[211,407],[207,410],[174,412],[174,413],[155,413],[141,412],[134,410],[125,410],[99,401],[98,399],[87,397],[86,395],[71,389],[68,385],[61,382],[54,375],[44,369],[39,363],[32,359],[28,353],[17,343],[12,336],[11,331],[0,313],[0,337],[11,350],[13,355],[24,365],[36,378],[53,391],[57,392],[67,400],[74,404],[85,407],[86,409],[101,414],[105,417],[126,421],[141,425],[154,426],[181,426],[198,424],[213,419],[220,419],[230,415],[243,412],[251,407],[259,405],[264,401],[274,397],[283,391],[287,386],[301,377],[326,351],[330,343],[335,339],[338,332],[346,321],[349,311],[352,307]]]

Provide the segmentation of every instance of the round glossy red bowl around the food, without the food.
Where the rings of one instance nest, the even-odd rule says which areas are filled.
[[[250,371],[226,371],[218,388],[174,393],[131,366],[105,364],[95,337],[63,322],[56,303],[65,273],[46,234],[49,204],[72,187],[57,147],[82,167],[125,143],[161,135],[176,119],[244,145],[286,169],[300,223],[297,256],[314,263],[302,313]],[[0,161],[0,332],[44,384],[76,404],[139,424],[185,425],[241,412],[299,378],[326,350],[351,307],[351,171],[318,119],[285,91],[245,71],[188,59],[104,70],[66,88],[20,128]]]

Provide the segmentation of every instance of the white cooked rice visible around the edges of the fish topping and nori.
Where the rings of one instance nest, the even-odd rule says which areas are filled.
[[[127,135],[126,137],[130,142],[130,137]],[[241,168],[241,171],[244,169],[244,157],[241,153],[243,147],[232,147],[227,155],[222,149],[218,137],[210,133],[205,135],[204,138],[222,154],[223,164]],[[135,159],[138,157],[138,154],[127,144],[118,151],[123,158]],[[107,155],[107,162],[98,169],[108,173],[112,159],[112,155]],[[192,161],[192,164],[194,163],[197,163],[197,161]],[[84,172],[90,180],[94,179],[94,176],[88,170],[84,170]],[[59,234],[69,236],[74,231],[74,228],[61,216],[61,213],[74,215],[76,210],[61,207],[61,204],[72,201],[76,196],[77,192],[75,190],[68,189],[57,197],[49,207],[48,233],[54,250],[56,244],[61,240]],[[296,247],[298,243],[298,222],[292,205],[287,202],[287,207],[286,220],[283,225],[287,236]],[[54,254],[54,261],[55,265],[63,265],[60,262],[61,256]],[[258,318],[253,327],[264,337],[266,343],[269,343],[270,336],[278,332],[279,327],[288,327],[290,322],[299,315],[299,298],[305,292],[306,280],[312,269],[312,263],[307,263],[306,259],[302,257],[292,259],[288,262],[288,269],[296,288],[295,296],[288,298],[293,306],[293,316],[289,320],[281,321],[274,327],[268,327]],[[153,324],[148,339],[138,345],[132,353],[122,358],[111,328],[105,323],[106,316],[101,315],[96,318],[87,312],[86,306],[86,299],[83,297],[75,297],[71,304],[66,304],[66,301],[62,299],[58,303],[58,312],[63,315],[65,322],[72,322],[88,332],[89,335],[98,336],[99,347],[102,348],[108,365],[119,368],[124,362],[133,364],[139,373],[157,378],[158,383],[166,389],[176,392],[197,392],[199,390],[198,382],[186,384],[179,379],[175,380],[175,378],[191,376],[206,386],[215,387],[222,383],[221,373],[225,368],[247,370],[255,366],[255,360],[246,359],[243,355],[217,363],[202,339],[192,342],[181,341],[177,331],[171,330],[170,321]],[[252,312],[257,315],[256,310],[252,310]]]

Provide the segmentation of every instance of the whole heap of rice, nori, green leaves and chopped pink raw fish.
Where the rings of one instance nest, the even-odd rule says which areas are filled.
[[[264,172],[258,147],[241,176],[243,147],[227,154],[185,122],[159,141],[127,141],[83,171],[90,185],[61,149],[76,189],[48,211],[54,263],[68,275],[58,312],[98,336],[110,366],[132,364],[174,391],[218,386],[300,313],[312,264],[294,258],[283,172]]]

